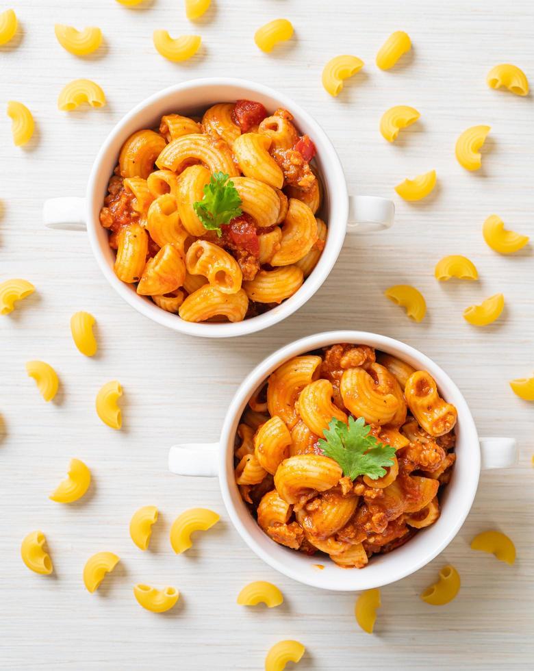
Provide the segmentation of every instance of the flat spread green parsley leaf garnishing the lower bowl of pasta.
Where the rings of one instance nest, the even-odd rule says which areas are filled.
[[[370,435],[371,427],[363,417],[348,418],[348,426],[333,419],[325,429],[326,440],[319,441],[319,447],[327,457],[331,457],[343,469],[343,474],[354,480],[366,475],[377,480],[385,475],[383,466],[392,466],[395,448],[379,442]]]

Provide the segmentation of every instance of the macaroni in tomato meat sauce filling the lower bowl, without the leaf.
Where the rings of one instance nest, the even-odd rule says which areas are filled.
[[[456,420],[428,372],[366,345],[335,344],[285,362],[250,399],[236,435],[236,483],[272,540],[363,568],[440,516]],[[381,477],[364,474],[365,459],[348,477],[325,456],[323,431],[335,422],[347,435],[359,425],[366,457],[372,446],[376,459],[393,455]]]

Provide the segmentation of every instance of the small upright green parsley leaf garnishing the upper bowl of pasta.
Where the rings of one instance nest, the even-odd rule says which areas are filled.
[[[204,187],[204,197],[193,203],[196,216],[208,231],[217,231],[220,238],[223,231],[220,226],[240,216],[241,199],[238,190],[233,186],[225,173],[213,173],[209,184]]]

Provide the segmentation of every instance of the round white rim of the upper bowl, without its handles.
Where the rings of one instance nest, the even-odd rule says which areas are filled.
[[[162,99],[179,92],[194,90],[196,88],[206,88],[209,86],[235,86],[249,90],[252,93],[259,93],[271,97],[277,100],[281,106],[290,110],[290,112],[295,112],[295,116],[305,119],[306,124],[313,129],[314,140],[320,138],[318,143],[320,142],[329,150],[329,157],[325,162],[327,164],[327,170],[329,171],[331,179],[338,183],[338,188],[342,192],[342,194],[335,194],[335,207],[339,210],[338,216],[336,216],[335,219],[340,220],[341,224],[336,227],[331,227],[329,221],[329,234],[327,238],[329,253],[328,255],[325,253],[321,255],[312,274],[305,279],[301,288],[299,288],[293,296],[290,296],[289,299],[283,301],[280,305],[273,307],[264,314],[245,319],[241,322],[221,324],[203,324],[201,322],[195,323],[183,321],[179,316],[170,314],[170,312],[165,312],[160,307],[157,307],[157,305],[149,303],[149,301],[144,300],[135,292],[132,292],[129,286],[125,285],[125,283],[116,277],[110,264],[107,263],[107,260],[103,256],[97,238],[97,225],[99,224],[94,222],[93,216],[94,198],[98,195],[94,193],[94,183],[96,182],[97,173],[99,173],[100,170],[100,164],[107,155],[109,146],[113,140],[121,134],[123,129],[129,125],[133,118],[140,114],[140,112],[145,112],[149,107],[155,105],[155,103],[158,103]],[[325,171],[326,170],[323,170],[322,172],[325,173]],[[325,181],[324,178],[323,181]],[[341,198],[340,195],[342,195]],[[138,103],[138,105],[133,107],[120,119],[105,138],[101,149],[97,153],[97,157],[92,164],[86,192],[86,207],[87,230],[94,257],[97,259],[97,263],[107,281],[111,284],[114,290],[116,290],[116,292],[131,305],[131,307],[158,324],[173,329],[174,331],[179,331],[188,335],[201,336],[203,338],[231,338],[238,335],[246,335],[248,333],[255,333],[256,331],[262,331],[263,329],[277,324],[302,307],[322,286],[322,283],[325,282],[335,265],[335,262],[338,260],[346,235],[346,224],[348,220],[348,191],[340,157],[338,156],[337,151],[335,151],[335,147],[327,133],[322,129],[315,118],[304,110],[301,105],[298,105],[288,96],[273,88],[264,86],[263,84],[256,84],[247,79],[239,79],[236,77],[203,77],[199,79],[190,79],[181,84],[174,84],[173,86],[168,86],[168,88],[156,92]],[[325,247],[325,251],[327,247]],[[330,262],[328,259],[331,259]]]

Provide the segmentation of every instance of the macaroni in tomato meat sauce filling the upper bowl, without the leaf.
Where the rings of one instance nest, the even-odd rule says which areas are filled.
[[[190,322],[236,322],[290,299],[318,263],[328,228],[315,146],[286,110],[216,103],[202,120],[162,116],[123,143],[100,213],[117,277]],[[241,214],[205,227],[197,203],[228,175]]]

